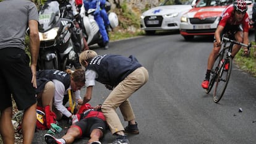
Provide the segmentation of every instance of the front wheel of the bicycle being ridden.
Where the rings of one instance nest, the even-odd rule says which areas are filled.
[[[228,57],[227,59],[225,59],[223,65],[220,67],[220,70],[218,70],[218,73],[216,75],[215,90],[213,93],[213,101],[215,103],[218,103],[224,95],[231,75],[231,69],[232,59],[231,57]]]

